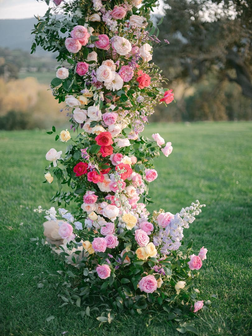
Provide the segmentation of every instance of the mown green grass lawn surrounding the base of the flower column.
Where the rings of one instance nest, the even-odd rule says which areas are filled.
[[[157,132],[173,152],[155,160],[159,176],[150,184],[154,204],[148,209],[176,213],[196,199],[206,204],[184,240],[193,239],[195,250],[208,249],[196,285],[218,299],[197,313],[195,327],[200,335],[251,335],[252,123],[152,124],[145,135]],[[65,146],[45,131],[0,132],[0,335],[181,335],[167,321],[146,327],[146,314],[136,318],[127,311],[99,327],[95,318],[78,314],[83,308],[59,308],[53,290],[36,287],[33,277],[57,270],[58,260],[29,240],[43,237],[43,216],[33,209],[51,206],[56,183],[42,184],[45,154]]]

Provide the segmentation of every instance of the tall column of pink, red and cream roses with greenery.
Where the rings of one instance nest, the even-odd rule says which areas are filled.
[[[141,136],[154,106],[174,99],[151,62],[161,43],[151,21],[157,1],[45,2],[50,7],[35,25],[32,51],[57,52],[51,90],[66,103],[76,134],[62,130],[55,140],[67,142],[65,154],[55,145],[45,155],[45,179],[59,186],[52,200],[74,205],[71,212],[46,210],[48,220],[61,219],[58,234],[66,242],[56,291],[64,305],[97,306],[100,295],[117,310],[161,307],[169,320],[179,320],[178,307],[196,312],[204,304],[193,279],[207,249],[197,255],[192,244],[183,245],[184,229],[204,205],[196,201],[176,214],[146,209],[149,184],[158,178],[153,158],[172,153],[159,133]]]

